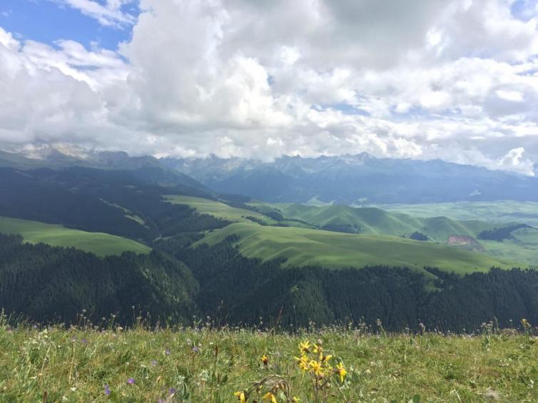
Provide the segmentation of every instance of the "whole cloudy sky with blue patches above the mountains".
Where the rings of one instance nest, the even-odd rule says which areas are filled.
[[[538,175],[538,0],[1,0],[0,148]]]

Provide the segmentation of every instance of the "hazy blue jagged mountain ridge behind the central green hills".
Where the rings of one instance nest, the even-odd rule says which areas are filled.
[[[375,158],[367,153],[271,163],[240,158],[162,158],[220,193],[268,202],[441,203],[538,200],[538,178],[443,160]]]

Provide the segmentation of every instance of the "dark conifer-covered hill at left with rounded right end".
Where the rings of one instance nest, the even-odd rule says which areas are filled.
[[[124,252],[103,259],[74,248],[22,243],[0,235],[0,307],[31,320],[74,322],[117,315],[128,323],[150,312],[179,321],[195,313],[198,282],[183,263],[162,252]]]

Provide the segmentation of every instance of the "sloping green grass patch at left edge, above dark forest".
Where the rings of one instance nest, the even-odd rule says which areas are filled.
[[[19,234],[27,243],[46,243],[52,246],[77,248],[93,252],[98,256],[121,255],[128,250],[136,253],[151,251],[151,248],[146,245],[116,235],[88,233],[64,228],[61,225],[17,218],[0,217],[0,233]]]

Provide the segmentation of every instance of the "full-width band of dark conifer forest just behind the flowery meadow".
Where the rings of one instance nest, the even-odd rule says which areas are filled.
[[[193,315],[215,325],[279,326],[365,322],[386,330],[477,330],[522,317],[538,322],[538,272],[498,270],[459,277],[436,269],[427,278],[405,268],[327,270],[282,267],[240,255],[233,239],[188,248],[201,238],[183,234],[154,243],[150,255],[126,252],[100,259],[75,249],[28,245],[0,236],[0,305],[31,320],[73,322],[77,314],[98,322],[135,315],[153,322],[191,324]],[[430,284],[431,285],[431,284]],[[136,314],[133,312],[135,306]]]

